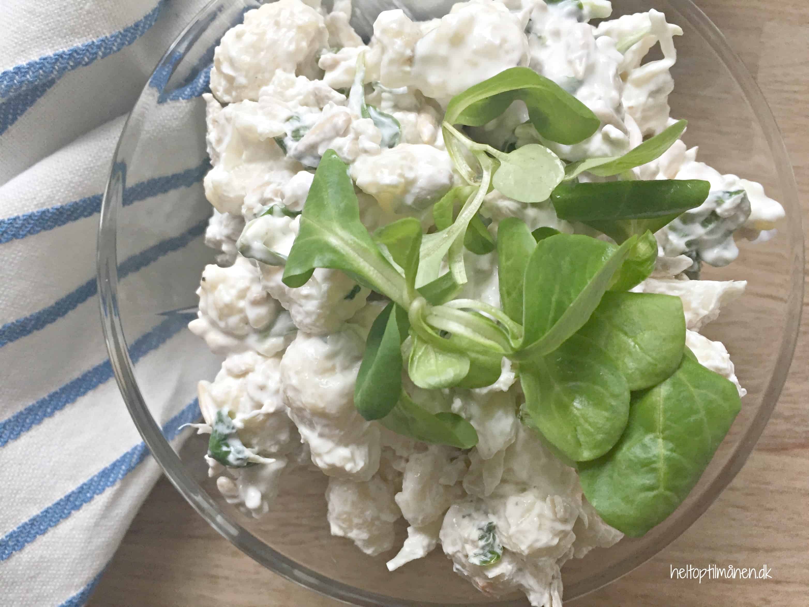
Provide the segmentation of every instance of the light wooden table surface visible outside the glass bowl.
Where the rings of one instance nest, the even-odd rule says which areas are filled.
[[[809,201],[809,2],[699,0],[756,77],[786,138]],[[809,225],[809,202],[804,206]],[[803,336],[809,329],[804,305]],[[657,557],[574,605],[809,605],[809,339],[773,418],[739,476]],[[767,564],[773,579],[670,581],[670,564]],[[661,596],[666,596],[665,601]],[[2,602],[2,601],[0,601]],[[273,575],[197,516],[163,478],[129,529],[92,607],[335,607]]]

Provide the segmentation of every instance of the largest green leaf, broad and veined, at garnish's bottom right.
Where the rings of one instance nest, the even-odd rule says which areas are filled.
[[[578,466],[587,501],[607,524],[642,536],[688,496],[740,408],[729,380],[685,355],[674,375],[633,393],[618,444]]]

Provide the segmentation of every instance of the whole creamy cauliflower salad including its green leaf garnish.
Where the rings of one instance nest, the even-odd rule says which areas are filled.
[[[560,607],[564,563],[666,519],[731,427],[700,330],[746,283],[700,270],[783,210],[680,139],[658,11],[470,0],[366,41],[352,10],[268,3],[214,54],[210,476],[262,516],[315,466],[333,535],[375,556],[404,519],[389,570],[438,548]]]

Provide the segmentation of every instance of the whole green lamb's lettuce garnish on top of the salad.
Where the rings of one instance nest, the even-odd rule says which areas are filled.
[[[624,174],[658,158],[684,123],[634,154],[567,168],[543,146],[506,154],[456,128],[483,125],[519,99],[544,138],[589,137],[597,119],[549,82],[515,68],[451,100],[444,137],[468,185],[451,189],[434,205],[430,233],[406,218],[369,234],[348,167],[327,151],[283,282],[299,287],[316,268],[333,268],[390,300],[367,338],[354,403],[362,417],[402,435],[457,448],[477,444],[467,420],[417,403],[405,389],[405,366],[419,388],[479,388],[498,380],[502,359],[510,359],[525,395],[523,422],[565,461],[578,463],[585,493],[605,520],[626,533],[643,533],[684,499],[738,410],[732,384],[689,358],[680,299],[629,292],[654,269],[658,247],[652,231],[699,206],[709,185],[573,181],[585,170]],[[587,223],[617,244],[550,228],[532,232],[519,219],[500,222],[495,240],[479,214],[492,187],[523,202],[548,200],[561,219]],[[502,309],[455,299],[466,282],[464,246],[481,254],[496,248]],[[699,461],[684,478],[669,481],[667,474],[676,472],[694,438],[672,425],[679,418],[667,408],[697,384],[686,408],[711,426],[710,439],[698,445]],[[705,404],[720,397],[729,404],[705,413]],[[657,451],[645,451],[646,443]],[[642,469],[651,469],[652,460],[662,474],[656,478]],[[647,489],[648,499],[634,509],[628,501],[633,491]]]

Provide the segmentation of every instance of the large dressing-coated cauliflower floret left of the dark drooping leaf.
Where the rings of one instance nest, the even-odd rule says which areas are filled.
[[[290,418],[325,474],[370,480],[379,469],[379,427],[354,408],[365,344],[346,325],[328,337],[299,332],[281,361]]]

